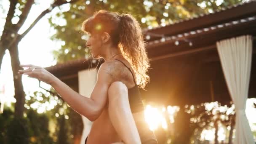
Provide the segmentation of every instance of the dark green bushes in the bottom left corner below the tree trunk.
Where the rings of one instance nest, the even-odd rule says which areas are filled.
[[[8,107],[0,115],[0,144],[53,144],[48,117],[29,109],[18,119]]]

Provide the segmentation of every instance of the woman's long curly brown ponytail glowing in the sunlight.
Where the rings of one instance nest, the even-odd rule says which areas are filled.
[[[138,85],[145,88],[149,82],[147,57],[142,30],[131,14],[120,15],[120,49],[136,73]]]

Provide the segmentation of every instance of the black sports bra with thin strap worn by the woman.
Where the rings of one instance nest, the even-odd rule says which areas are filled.
[[[117,61],[120,61],[118,59],[115,59]],[[125,65],[125,63],[123,63],[123,61],[120,61],[125,67],[127,67]],[[129,71],[131,72],[131,74],[133,75],[133,72],[131,71],[131,69],[129,67],[127,67],[129,69]],[[131,112],[141,112],[144,111],[144,106],[142,103],[142,99],[141,99],[141,93],[139,91],[138,85],[136,83],[135,77],[133,76],[133,81],[135,83],[135,86],[132,88],[128,88],[128,98],[129,98],[129,103],[130,103],[130,107],[131,107]]]

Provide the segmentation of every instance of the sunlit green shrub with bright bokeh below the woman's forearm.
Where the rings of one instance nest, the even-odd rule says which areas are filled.
[[[29,99],[30,100],[26,100],[25,107],[28,109],[26,111],[27,117],[29,120],[33,120],[31,121],[31,128],[35,129],[33,135],[35,143],[73,144],[75,138],[80,138],[83,131],[81,116],[71,109],[53,89],[51,89],[51,92],[42,90],[31,93]],[[52,104],[54,104],[54,106],[52,105],[53,107],[50,109],[46,108],[43,114],[37,114],[37,116],[33,113],[37,113],[35,111],[36,109],[32,110],[34,109],[32,108],[34,107],[33,104],[38,105],[36,109],[43,107],[45,104],[49,104],[48,108]],[[40,124],[38,124],[38,121],[40,121]],[[49,126],[49,124],[51,125]],[[37,127],[37,129],[35,127]],[[49,135],[51,137],[49,137],[48,141],[53,140],[53,142],[47,142],[46,139],[42,139]]]

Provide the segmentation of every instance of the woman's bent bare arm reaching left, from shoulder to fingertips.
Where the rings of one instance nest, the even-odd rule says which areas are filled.
[[[21,65],[22,67],[36,67],[32,65]],[[41,67],[36,67],[34,71],[31,69],[20,70],[19,74],[29,75],[29,77],[37,78],[48,84],[59,93],[59,95],[72,107],[76,112],[84,115],[89,120],[96,120],[101,114],[104,106],[107,103],[107,92],[112,82],[110,75],[107,72],[107,64],[101,64],[99,68],[96,84],[91,93],[91,98],[84,97],[79,93],[69,88],[57,77]]]

